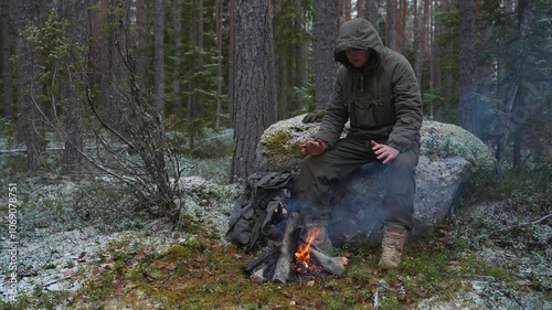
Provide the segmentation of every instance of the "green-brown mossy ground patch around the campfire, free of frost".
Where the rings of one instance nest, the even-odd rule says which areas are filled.
[[[219,239],[194,236],[149,256],[137,256],[136,248],[144,250],[136,245],[124,256],[131,256],[126,264],[102,270],[77,293],[73,306],[95,301],[106,308],[116,303],[132,309],[152,303],[166,309],[372,309],[378,291],[379,309],[400,309],[428,297],[447,300],[469,290],[465,275],[514,282],[506,268],[461,255],[461,248],[442,243],[435,232],[406,245],[401,270],[378,269],[379,250],[355,245],[341,249],[349,257],[342,276],[309,284],[246,279],[242,268],[261,253],[242,252]]]

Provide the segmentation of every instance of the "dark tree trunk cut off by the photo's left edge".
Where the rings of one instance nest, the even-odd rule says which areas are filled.
[[[3,116],[14,120],[13,116],[13,75],[11,71],[11,1],[3,0],[1,7],[2,19],[2,84],[3,84]]]

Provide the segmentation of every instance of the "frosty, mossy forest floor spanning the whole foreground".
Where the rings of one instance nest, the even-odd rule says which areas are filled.
[[[358,243],[337,249],[343,275],[276,284],[243,272],[263,249],[224,238],[240,186],[184,182],[187,221],[176,225],[124,207],[104,179],[19,180],[18,253],[1,252],[0,309],[552,309],[550,197],[457,210],[407,243],[400,271],[379,270],[379,246]]]

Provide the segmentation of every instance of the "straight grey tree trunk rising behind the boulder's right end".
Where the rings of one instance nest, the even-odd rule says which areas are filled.
[[[460,1],[459,6],[459,125],[478,135],[476,122],[476,29],[475,1]]]

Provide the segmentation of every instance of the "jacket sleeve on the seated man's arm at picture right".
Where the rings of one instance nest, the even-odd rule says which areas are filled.
[[[416,76],[408,61],[402,56],[393,71],[392,83],[396,122],[388,145],[404,152],[412,148],[413,142],[420,142],[423,109]]]

